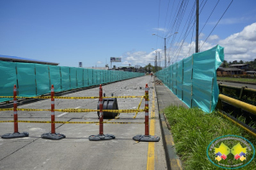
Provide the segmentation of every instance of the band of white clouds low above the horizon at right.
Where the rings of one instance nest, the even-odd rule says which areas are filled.
[[[204,36],[204,34],[202,34],[201,36]],[[167,62],[168,57],[170,57],[170,61],[172,64],[172,62],[175,63],[195,53],[195,42],[183,42],[183,48],[180,51],[176,50],[175,53],[173,53],[173,49],[179,47],[182,42],[183,40],[181,42],[175,42],[171,49],[167,48]],[[203,46],[201,47],[202,44]],[[208,37],[207,42],[201,40],[199,42],[199,48],[202,52],[207,49],[213,48],[217,44],[224,47],[225,60],[250,61],[256,59],[256,23],[246,26],[241,32],[232,34],[230,35],[230,37],[226,37],[225,39],[219,39],[218,35],[212,35]],[[164,51],[161,49],[157,49],[157,51],[160,52],[160,56],[162,57],[161,65],[163,65]],[[157,56],[159,56],[159,54],[157,54]],[[127,63],[131,63],[132,65],[148,65],[148,63],[154,65],[155,50],[150,53],[143,51],[127,52],[122,55],[122,57],[125,61],[127,61]]]

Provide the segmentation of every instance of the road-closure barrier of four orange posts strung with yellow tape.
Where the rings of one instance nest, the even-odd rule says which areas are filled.
[[[145,135],[140,135],[139,137],[135,136],[133,139],[137,141],[153,141],[158,142],[160,140],[157,136],[150,136],[148,130],[148,84],[145,87],[145,95],[144,96],[117,96],[117,97],[103,97],[102,96],[102,85],[99,88],[99,97],[55,97],[55,90],[54,86],[51,86],[51,93],[49,96],[44,97],[25,97],[25,98],[41,98],[41,99],[51,99],[51,109],[18,109],[17,108],[17,95],[16,95],[16,86],[14,87],[14,96],[1,96],[2,98],[13,98],[14,99],[14,108],[3,108],[0,111],[14,111],[14,121],[0,121],[0,122],[14,122],[15,132],[14,133],[7,133],[2,136],[3,139],[10,139],[10,138],[22,138],[28,137],[28,133],[19,133],[18,132],[18,122],[31,122],[31,123],[51,123],[51,131],[50,133],[44,133],[41,135],[43,139],[64,139],[66,136],[61,133],[55,133],[55,123],[99,123],[99,134],[97,135],[90,135],[89,140],[97,141],[97,140],[108,140],[108,139],[115,139],[115,136],[112,134],[104,134],[103,133],[103,123],[111,123],[111,124],[129,124],[129,123],[145,123]],[[0,98],[1,98],[0,97]],[[19,96],[20,97],[20,96]],[[20,97],[21,98],[21,97]],[[103,110],[103,102],[102,100],[105,98],[141,98],[141,101],[137,107],[137,110]],[[142,103],[143,98],[145,99],[145,108],[140,110],[140,105]],[[90,110],[90,109],[55,109],[55,99],[99,99],[100,107],[99,110]],[[51,121],[18,121],[17,111],[51,111]],[[91,111],[99,111],[100,112],[100,120],[99,122],[55,122],[55,111],[62,111],[62,112],[91,112]],[[116,113],[131,113],[131,112],[142,112],[145,111],[145,122],[103,122],[103,112],[116,112]],[[133,118],[135,118],[134,116]]]

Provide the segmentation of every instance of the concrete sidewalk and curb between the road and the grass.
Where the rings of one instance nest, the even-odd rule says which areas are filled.
[[[159,80],[157,77],[154,77],[154,81]],[[182,105],[183,107],[188,108],[187,105],[183,103],[180,99],[177,98],[172,91],[167,88],[165,85],[155,84],[156,98],[158,103],[158,109],[160,114],[160,127],[162,131],[162,139],[164,142],[164,147],[166,151],[166,163],[168,169],[183,169],[182,163],[179,160],[179,157],[176,154],[175,144],[173,142],[172,133],[167,126],[166,118],[164,116],[164,109],[169,105]]]

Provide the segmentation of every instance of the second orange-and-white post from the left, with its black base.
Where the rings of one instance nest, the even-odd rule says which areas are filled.
[[[53,139],[59,140],[64,139],[66,136],[61,133],[55,133],[55,88],[54,85],[51,85],[50,97],[51,97],[51,132],[44,133],[41,135],[42,139]]]

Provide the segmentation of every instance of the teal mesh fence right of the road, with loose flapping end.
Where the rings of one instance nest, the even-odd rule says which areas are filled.
[[[210,113],[218,102],[216,70],[223,61],[224,48],[217,45],[156,72],[156,76],[186,105]]]

